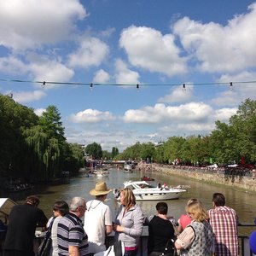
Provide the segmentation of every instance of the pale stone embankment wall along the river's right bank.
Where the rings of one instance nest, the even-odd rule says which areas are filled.
[[[162,172],[168,176],[176,175],[179,177],[192,178],[204,183],[214,183],[224,185],[234,189],[240,189],[256,193],[256,178],[244,172],[225,169],[207,169],[191,166],[172,166],[138,163],[137,170],[144,172]],[[254,173],[253,173],[254,174]]]

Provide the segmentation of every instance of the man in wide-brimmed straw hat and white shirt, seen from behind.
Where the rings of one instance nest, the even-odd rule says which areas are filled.
[[[84,230],[88,236],[91,254],[106,250],[105,238],[113,230],[112,213],[110,208],[104,204],[110,191],[112,189],[108,189],[106,183],[98,182],[95,189],[90,190],[90,195],[95,195],[96,198],[86,203]]]

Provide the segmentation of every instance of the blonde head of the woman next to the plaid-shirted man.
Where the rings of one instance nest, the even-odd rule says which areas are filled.
[[[186,211],[192,219],[199,222],[209,218],[207,210],[202,206],[202,203],[199,200],[190,202],[186,207]]]

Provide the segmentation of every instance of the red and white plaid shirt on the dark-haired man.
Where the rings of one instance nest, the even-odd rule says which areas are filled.
[[[216,207],[208,211],[209,222],[214,233],[214,250],[217,256],[237,256],[238,218],[236,211],[230,207]]]

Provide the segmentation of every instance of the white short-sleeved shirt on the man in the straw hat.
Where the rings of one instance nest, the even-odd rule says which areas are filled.
[[[105,251],[106,226],[112,226],[110,208],[99,200],[88,201],[86,207],[84,230],[88,236],[90,253]]]

